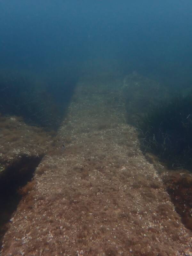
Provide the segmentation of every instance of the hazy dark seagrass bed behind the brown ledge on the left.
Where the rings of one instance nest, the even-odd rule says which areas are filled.
[[[73,91],[71,84],[62,82],[52,79],[41,83],[24,72],[0,72],[0,113],[21,116],[28,124],[56,130]]]

